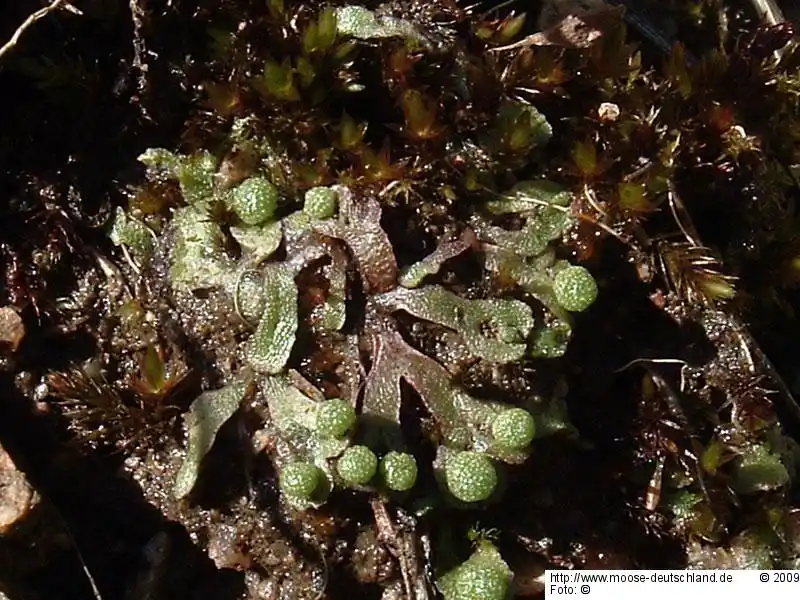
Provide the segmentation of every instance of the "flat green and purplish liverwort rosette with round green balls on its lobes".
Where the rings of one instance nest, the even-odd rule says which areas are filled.
[[[351,30],[342,26],[335,30],[338,34],[333,39],[361,39],[360,36],[421,39],[412,33],[417,30],[409,28],[407,22],[394,23],[396,27],[390,28],[390,34],[381,27]],[[321,25],[315,27],[318,26]],[[310,61],[310,69],[315,64],[321,66],[316,61],[332,47],[326,42],[323,46],[327,50],[314,50],[313,44],[308,44],[303,46],[301,55]],[[307,98],[307,94],[321,90],[312,92],[305,89],[302,79],[292,79],[293,70],[288,66],[292,60],[268,63],[259,91],[269,96],[270,106],[285,103],[289,113],[294,111],[295,103],[310,102],[323,119],[328,104],[340,102],[346,94],[334,88],[329,92],[330,98]],[[411,138],[419,141],[454,135],[436,124],[435,103],[422,91],[408,89],[402,98],[407,119],[405,133]],[[492,168],[498,175],[520,168],[526,156],[532,160],[551,137],[546,117],[535,107],[508,99],[501,104],[503,108],[495,123],[487,126],[476,120],[471,133],[458,134],[459,140],[466,136],[484,146],[494,157]],[[265,106],[252,107],[257,109],[263,110]],[[377,462],[372,465],[375,461],[367,460],[365,453],[370,452],[372,458],[375,455],[366,447],[350,446],[348,435],[356,420],[361,419],[352,408],[358,405],[353,394],[363,384],[365,419],[359,434],[373,440],[377,447],[393,451],[404,444],[396,434],[401,428],[404,403],[400,383],[405,381],[429,409],[444,445],[477,447],[494,437],[489,454],[470,451],[456,459],[456,463],[470,458],[475,469],[486,471],[488,477],[489,471],[494,472],[489,455],[506,462],[524,460],[533,440],[531,423],[523,419],[525,415],[530,417],[529,413],[518,409],[504,414],[502,402],[478,398],[460,389],[453,384],[439,357],[416,350],[414,341],[403,337],[397,319],[400,312],[405,312],[420,321],[447,328],[456,336],[454,339],[462,341],[469,355],[489,364],[521,363],[529,355],[542,355],[541,340],[545,339],[558,338],[550,353],[562,354],[569,339],[569,327],[565,327],[569,317],[565,310],[576,310],[577,304],[585,308],[596,293],[595,290],[590,294],[585,289],[588,283],[593,283],[588,272],[552,259],[560,239],[572,225],[565,208],[571,194],[555,183],[539,179],[518,183],[510,191],[499,193],[498,200],[498,192],[476,193],[464,173],[455,173],[446,180],[433,177],[426,184],[432,186],[431,193],[437,196],[445,187],[451,190],[449,194],[463,196],[465,216],[449,216],[448,227],[461,230],[462,240],[471,240],[472,251],[483,261],[487,276],[510,275],[520,291],[530,291],[538,303],[505,297],[499,288],[487,290],[488,297],[471,298],[448,289],[440,277],[447,262],[464,258],[470,248],[465,242],[442,237],[436,252],[401,272],[395,251],[399,240],[390,235],[382,218],[400,197],[382,192],[378,197],[384,199],[379,201],[375,191],[388,185],[384,190],[387,192],[392,186],[404,186],[406,182],[399,172],[391,175],[393,171],[388,164],[379,169],[374,162],[352,163],[351,145],[364,141],[358,141],[358,130],[353,129],[351,121],[340,123],[350,132],[348,136],[356,136],[346,141],[346,150],[341,149],[344,141],[341,137],[324,142],[330,143],[336,157],[328,160],[340,164],[333,172],[338,181],[334,178],[336,183],[330,186],[305,180],[308,174],[298,164],[303,160],[302,153],[296,154],[298,149],[281,135],[280,126],[284,122],[281,117],[275,115],[275,128],[269,130],[254,130],[246,122],[246,117],[241,117],[227,132],[228,143],[246,147],[253,159],[248,170],[233,181],[227,159],[220,162],[210,151],[181,155],[152,149],[142,155],[150,179],[177,182],[185,202],[171,221],[162,223],[159,228],[162,235],[155,234],[155,247],[149,252],[150,256],[168,257],[169,284],[175,293],[222,290],[236,314],[248,328],[253,328],[242,346],[247,367],[243,376],[268,398],[283,441],[292,448],[289,454],[293,459],[316,465],[327,474],[331,485],[335,485],[337,477],[351,485],[368,483]],[[522,137],[514,134],[512,130],[517,126],[527,133]],[[400,147],[406,152],[416,151],[409,143],[406,141]],[[386,158],[369,152],[368,146],[358,151],[362,159]],[[435,160],[451,158],[445,154]],[[383,174],[375,179],[378,172]],[[383,177],[399,179],[391,183],[383,181]],[[406,205],[403,210],[406,209],[413,207]],[[229,213],[233,214],[233,223],[226,222]],[[520,215],[524,228],[514,230],[498,220],[507,214]],[[124,213],[120,218],[123,217]],[[131,222],[123,219],[120,227]],[[130,245],[131,240],[139,238],[131,234],[118,235],[116,239],[122,245]],[[583,287],[570,287],[571,284],[565,287],[565,272],[585,274],[580,282]],[[578,292],[582,295],[573,288],[581,288]],[[363,314],[348,316],[354,310],[348,299],[355,293],[366,296]],[[581,297],[576,298],[576,293]],[[541,314],[542,310],[551,318],[534,317],[535,312]],[[323,369],[316,374],[317,381],[325,383],[338,396],[323,401],[322,392],[314,385],[297,383],[296,370],[310,364],[298,352],[309,352],[308,358],[314,360],[313,350],[299,349],[298,342],[340,331],[350,318],[357,327],[355,336],[369,349],[367,358],[371,366],[361,380],[360,373],[365,370],[362,358],[340,338],[332,350],[338,356],[335,364],[341,365],[342,370]],[[349,380],[345,382],[343,376]],[[537,410],[546,412],[548,402],[549,399],[543,399]],[[509,418],[515,415],[519,418]],[[488,431],[487,423],[492,419],[494,425]],[[376,423],[382,425],[376,427]],[[336,456],[334,472],[328,463]],[[355,460],[359,456],[363,459],[360,462]],[[390,466],[398,460],[391,456]],[[359,469],[359,465],[363,468]],[[367,468],[370,465],[375,468]],[[405,478],[391,475],[392,481],[385,482],[390,489],[405,490],[413,485],[408,481],[416,478],[416,472],[411,477],[411,467],[406,465],[404,470],[408,473]],[[469,485],[459,486],[459,480],[467,481],[469,477],[466,472],[463,477],[450,477],[450,491],[457,498],[475,502],[491,494],[494,484],[488,486],[491,489],[481,488],[477,492],[467,490]],[[486,483],[484,480],[483,476],[476,478],[479,483]]]

